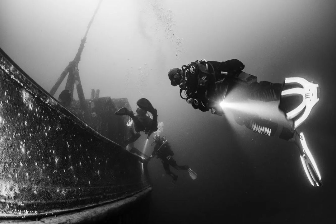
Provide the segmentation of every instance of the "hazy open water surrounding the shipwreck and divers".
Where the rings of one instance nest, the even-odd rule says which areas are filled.
[[[2,0],[0,47],[49,92],[75,57],[97,4]],[[139,98],[149,99],[177,164],[198,174],[192,180],[171,168],[178,175],[172,184],[161,161],[151,160],[150,223],[334,219],[335,8],[334,0],[102,1],[79,62],[85,97],[99,89],[100,97],[127,98],[133,111]],[[310,185],[294,144],[253,133],[229,113],[195,110],[180,98],[168,71],[202,58],[237,58],[258,81],[298,76],[319,84],[320,101],[299,131],[319,166],[322,187]],[[142,133],[134,145],[150,155],[154,147],[144,148],[145,140]]]

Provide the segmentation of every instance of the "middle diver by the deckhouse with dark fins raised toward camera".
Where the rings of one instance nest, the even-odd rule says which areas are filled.
[[[134,124],[136,133],[133,132],[133,129],[130,129],[131,137],[126,140],[126,145],[135,142],[140,137],[140,131],[148,134],[148,139],[153,132],[158,130],[158,111],[153,107],[152,103],[146,98],[141,98],[136,104],[138,106],[136,115],[133,114],[132,110],[128,110],[126,107],[122,107],[115,112],[115,114],[119,116],[128,115]],[[147,115],[147,111],[153,115],[153,119]]]

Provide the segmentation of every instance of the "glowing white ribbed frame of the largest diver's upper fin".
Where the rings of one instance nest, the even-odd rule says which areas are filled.
[[[313,84],[299,77],[286,78],[285,86],[287,83],[296,83],[300,84],[303,87],[303,88],[295,87],[291,89],[286,89],[281,92],[281,97],[290,94],[298,94],[303,97],[302,102],[295,109],[286,113],[286,118],[288,120],[293,119],[293,128],[295,130],[306,120],[312,107],[319,101],[320,88],[318,84]],[[298,117],[298,115],[300,114],[301,116]]]

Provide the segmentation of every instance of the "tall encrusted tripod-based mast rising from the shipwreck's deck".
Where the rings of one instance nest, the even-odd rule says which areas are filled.
[[[86,42],[86,35],[89,32],[89,29],[91,27],[91,24],[93,22],[94,16],[96,15],[100,4],[101,4],[102,0],[99,0],[98,6],[96,8],[96,10],[93,13],[93,16],[87,26],[85,35],[83,37],[83,39],[81,40],[81,43],[79,45],[77,54],[75,56],[75,58],[69,62],[68,66],[65,68],[65,70],[61,73],[61,75],[59,76],[59,78],[57,79],[55,85],[51,88],[50,90],[50,95],[54,95],[55,92],[57,91],[57,89],[59,88],[60,84],[63,82],[64,78],[68,75],[68,79],[67,79],[67,83],[65,86],[65,90],[70,90],[71,91],[71,98],[73,99],[73,95],[74,95],[74,87],[76,84],[76,89],[77,89],[77,94],[78,94],[78,98],[79,98],[79,102],[80,102],[80,107],[81,109],[83,109],[84,111],[87,110],[87,105],[85,102],[85,97],[84,97],[84,92],[83,92],[83,88],[82,88],[82,84],[81,84],[81,80],[79,78],[79,70],[78,70],[78,63],[81,60],[81,54],[83,52],[84,49],[84,43]]]

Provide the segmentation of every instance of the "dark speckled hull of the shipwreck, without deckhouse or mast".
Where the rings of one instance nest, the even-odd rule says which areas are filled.
[[[73,212],[150,189],[146,162],[60,105],[0,49],[0,218]]]

